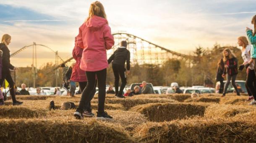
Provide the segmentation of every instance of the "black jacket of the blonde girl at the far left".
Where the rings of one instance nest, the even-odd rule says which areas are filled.
[[[3,57],[2,57],[2,73],[9,73],[10,70],[13,70],[14,66],[10,64],[10,50],[6,47],[5,44],[0,43],[0,50],[3,51]]]

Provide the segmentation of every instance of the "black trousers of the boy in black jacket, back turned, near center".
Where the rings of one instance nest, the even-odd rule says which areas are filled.
[[[125,73],[125,68],[122,65],[115,65],[112,64],[112,69],[115,75],[115,95],[116,96],[121,96],[123,95],[123,89],[125,88],[125,85],[127,83],[126,81],[126,73]],[[118,87],[119,87],[119,75],[122,81],[122,84],[120,86],[120,90],[118,92]]]

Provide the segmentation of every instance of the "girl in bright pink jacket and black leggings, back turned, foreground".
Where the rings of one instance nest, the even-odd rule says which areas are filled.
[[[86,71],[88,81],[74,116],[77,119],[84,118],[82,114],[84,106],[90,102],[90,93],[94,89],[95,76],[97,75],[99,103],[96,119],[111,119],[112,117],[104,111],[108,67],[106,50],[111,49],[115,41],[102,3],[98,1],[91,3],[89,17],[79,28],[79,34],[76,38],[78,46],[84,49],[80,68]]]

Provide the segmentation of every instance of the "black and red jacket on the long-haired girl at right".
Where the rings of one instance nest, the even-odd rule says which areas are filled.
[[[230,76],[238,74],[238,59],[231,58],[224,62],[225,65],[228,65],[228,68],[225,68],[224,74],[229,74]]]

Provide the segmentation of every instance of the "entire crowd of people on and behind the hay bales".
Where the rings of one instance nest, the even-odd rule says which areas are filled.
[[[238,45],[242,46],[242,57],[244,63],[238,67],[238,60],[230,49],[223,51],[223,58],[218,62],[217,81],[220,82],[219,93],[224,97],[227,93],[227,87],[230,84],[235,88],[236,94],[240,92],[235,85],[235,79],[238,74],[238,69],[247,70],[246,88],[248,90],[249,98],[256,99],[256,15],[253,17],[251,23],[254,25],[254,31],[246,28],[246,33],[251,45],[248,44],[246,37],[238,38]],[[13,100],[13,105],[21,105],[22,102],[16,100],[16,91],[14,81],[10,75],[10,70],[17,70],[18,68],[10,64],[10,44],[11,37],[8,34],[3,35],[0,43],[0,85],[7,80],[10,85],[10,95]],[[106,96],[106,77],[107,67],[112,63],[112,70],[115,76],[115,91],[110,86],[107,93],[115,94],[116,98],[125,98],[125,96],[134,96],[138,94],[152,94],[154,90],[143,81],[140,86],[135,86],[132,90],[129,89],[123,94],[123,89],[127,83],[127,75],[130,73],[130,52],[127,49],[128,43],[123,40],[120,48],[107,59],[107,50],[110,50],[114,45],[114,37],[111,34],[111,29],[107,21],[107,16],[104,11],[102,3],[96,1],[91,3],[89,8],[89,16],[84,23],[79,27],[79,33],[75,38],[75,46],[73,48],[73,58],[76,63],[71,67],[61,65],[63,68],[63,88],[67,90],[68,95],[74,96],[76,83],[78,82],[79,90],[81,92],[81,99],[78,107],[74,113],[77,119],[83,119],[84,116],[92,117],[94,113],[91,112],[91,100],[96,92],[98,85],[98,111],[97,120],[112,119],[110,115],[104,110],[105,96]],[[126,63],[126,68],[125,68]],[[223,83],[225,76],[227,82]],[[119,89],[119,80],[121,85]],[[70,85],[70,89],[68,89]],[[25,89],[26,85],[21,85],[19,93],[21,95],[29,95]],[[178,86],[174,86],[175,93],[183,93]],[[41,89],[37,88],[37,94],[41,94]],[[60,95],[60,89],[55,89],[55,95]],[[196,96],[196,95],[193,95]],[[0,105],[3,105],[3,93],[0,91]],[[255,105],[256,101],[250,103]]]

